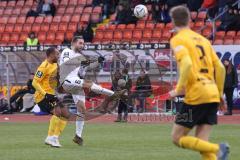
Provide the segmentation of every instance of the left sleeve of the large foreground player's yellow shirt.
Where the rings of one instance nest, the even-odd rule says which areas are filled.
[[[187,48],[179,42],[179,40],[171,41],[171,47],[179,67],[179,79],[175,89],[178,94],[184,92],[188,75],[192,67],[192,60],[189,56]]]

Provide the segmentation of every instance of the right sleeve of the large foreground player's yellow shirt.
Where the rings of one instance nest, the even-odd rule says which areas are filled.
[[[214,49],[212,47],[211,47],[211,50],[212,50],[211,56],[212,56],[214,70],[215,70],[215,81],[216,81],[220,96],[223,96],[226,71],[225,71],[225,68],[224,68],[221,60],[218,58],[216,52],[214,51]]]

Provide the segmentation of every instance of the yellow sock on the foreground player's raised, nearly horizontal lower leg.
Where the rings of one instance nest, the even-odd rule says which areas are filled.
[[[201,140],[192,136],[183,136],[179,140],[179,145],[183,148],[192,149],[199,152],[217,153],[219,145]]]

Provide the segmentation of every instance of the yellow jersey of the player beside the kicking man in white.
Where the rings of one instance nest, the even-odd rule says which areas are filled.
[[[37,72],[34,76],[34,81],[36,81],[41,88],[49,94],[55,94],[57,88],[57,63],[49,63],[47,60],[43,61],[38,67]],[[36,90],[34,98],[35,102],[38,103],[43,100],[45,95],[40,91]]]

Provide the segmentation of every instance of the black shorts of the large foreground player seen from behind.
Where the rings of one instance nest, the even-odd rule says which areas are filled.
[[[190,129],[196,125],[217,124],[218,105],[218,103],[200,105],[184,103],[176,115],[175,123]]]

